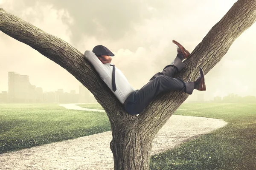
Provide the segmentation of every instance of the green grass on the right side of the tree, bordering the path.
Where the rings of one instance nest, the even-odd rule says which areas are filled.
[[[183,104],[175,114],[228,125],[151,156],[151,170],[256,170],[256,104]]]

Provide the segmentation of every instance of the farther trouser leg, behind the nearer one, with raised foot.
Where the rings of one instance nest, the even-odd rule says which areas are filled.
[[[170,65],[166,65],[165,68],[163,68],[162,72],[158,72],[157,74],[155,74],[150,80],[149,82],[151,82],[153,79],[155,79],[157,76],[168,76],[168,77],[173,77],[173,75],[175,73],[177,73],[178,71],[182,70],[182,68],[184,68],[185,65],[183,64],[183,62],[181,61],[181,59],[179,57],[176,57],[174,59],[174,61],[170,64]]]

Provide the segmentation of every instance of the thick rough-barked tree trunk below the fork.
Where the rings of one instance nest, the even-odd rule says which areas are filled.
[[[149,170],[151,142],[135,130],[123,130],[111,141],[115,170]]]

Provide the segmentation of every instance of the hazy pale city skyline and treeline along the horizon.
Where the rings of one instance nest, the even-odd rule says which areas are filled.
[[[70,100],[71,99],[71,100]],[[8,72],[8,91],[0,92],[1,102],[97,102],[93,94],[83,85],[79,85],[79,92],[58,88],[57,91],[43,91],[42,87],[37,87],[30,83],[29,75],[22,75],[17,72]],[[186,102],[256,102],[256,96],[239,96],[238,94],[228,94],[227,96],[214,96],[213,99],[204,99],[204,93],[197,94],[196,100],[186,100]]]

